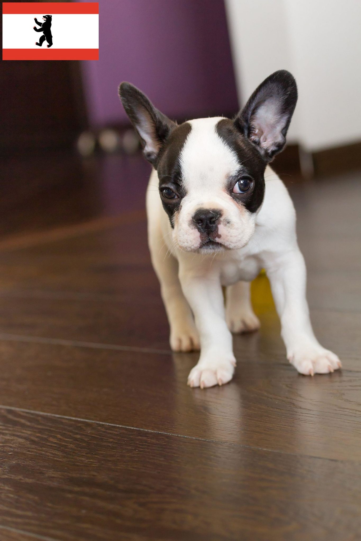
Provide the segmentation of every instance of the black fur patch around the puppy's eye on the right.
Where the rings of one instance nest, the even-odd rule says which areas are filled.
[[[245,194],[232,194],[232,189],[237,179],[232,178],[232,186],[229,185],[229,193],[236,201],[243,204],[250,212],[257,212],[265,196],[264,173],[267,162],[262,159],[259,151],[243,137],[239,130],[234,126],[229,118],[222,118],[216,124],[216,133],[220,136],[231,150],[237,155],[239,160],[239,178],[249,176],[253,181],[253,186]],[[239,179],[238,179],[239,180]]]

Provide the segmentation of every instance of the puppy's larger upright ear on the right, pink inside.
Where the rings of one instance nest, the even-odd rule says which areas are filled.
[[[285,146],[297,102],[297,85],[289,71],[275,71],[254,91],[234,118],[235,127],[271,161]]]

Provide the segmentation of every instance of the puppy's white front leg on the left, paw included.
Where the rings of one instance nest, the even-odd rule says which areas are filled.
[[[200,359],[189,373],[188,385],[201,388],[223,385],[232,379],[235,358],[219,276],[194,274],[180,265],[179,278],[201,342]]]

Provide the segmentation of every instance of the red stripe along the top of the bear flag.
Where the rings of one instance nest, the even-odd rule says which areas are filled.
[[[99,2],[3,2],[3,14],[99,14]]]

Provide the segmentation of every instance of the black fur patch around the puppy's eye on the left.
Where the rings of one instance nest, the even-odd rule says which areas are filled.
[[[167,142],[160,149],[154,164],[159,177],[159,188],[169,187],[178,195],[178,199],[166,199],[161,194],[163,208],[169,216],[170,225],[174,228],[174,215],[178,212],[181,198],[186,195],[183,186],[180,154],[192,126],[183,122],[170,133]]]

